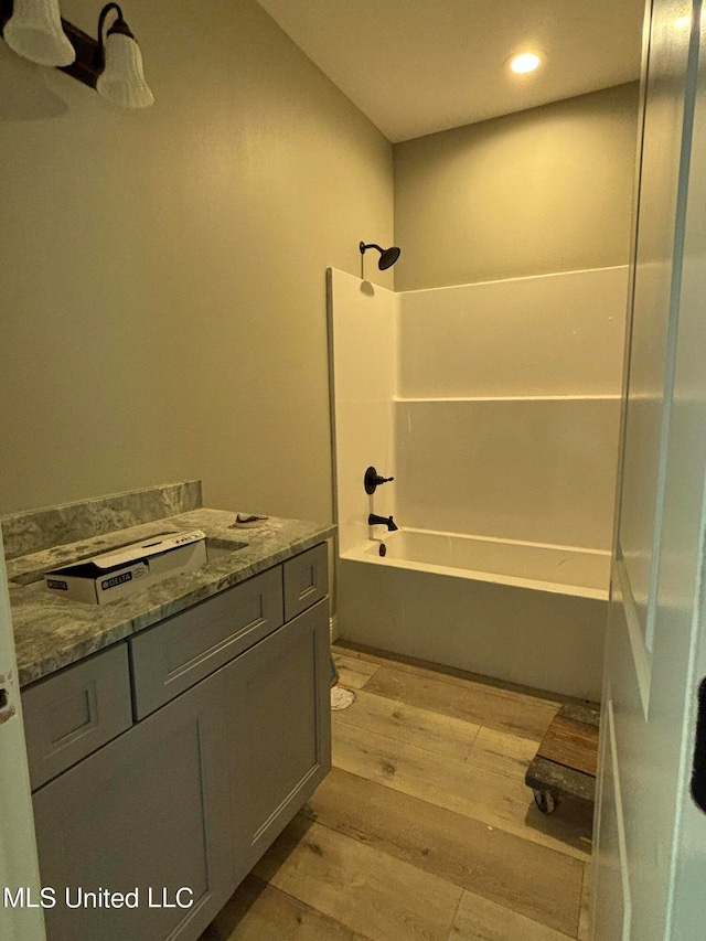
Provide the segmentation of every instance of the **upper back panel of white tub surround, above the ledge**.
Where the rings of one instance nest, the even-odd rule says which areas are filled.
[[[399,395],[620,394],[628,268],[398,295]]]

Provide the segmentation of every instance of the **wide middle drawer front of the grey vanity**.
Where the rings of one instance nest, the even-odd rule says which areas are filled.
[[[183,693],[282,623],[278,566],[130,639],[136,718]]]

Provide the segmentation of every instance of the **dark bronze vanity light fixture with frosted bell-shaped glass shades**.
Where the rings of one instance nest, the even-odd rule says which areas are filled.
[[[106,18],[111,12],[116,19],[104,39]],[[154,103],[145,81],[140,47],[117,3],[107,3],[100,11],[97,40],[60,19],[58,0],[0,0],[0,24],[14,52],[40,65],[55,65],[114,105],[148,108]],[[51,52],[40,58],[44,49]]]

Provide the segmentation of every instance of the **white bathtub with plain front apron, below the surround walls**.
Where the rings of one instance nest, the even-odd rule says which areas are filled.
[[[609,570],[602,550],[402,528],[341,555],[338,633],[597,701]]]

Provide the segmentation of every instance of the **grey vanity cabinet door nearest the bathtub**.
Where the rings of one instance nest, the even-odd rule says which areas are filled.
[[[223,671],[236,883],[331,768],[328,610],[320,601]]]

